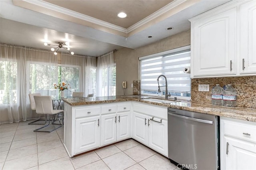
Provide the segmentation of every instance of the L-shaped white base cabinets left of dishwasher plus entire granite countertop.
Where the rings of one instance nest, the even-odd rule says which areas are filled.
[[[159,103],[144,100],[147,98],[152,97],[130,95],[63,99],[64,146],[69,156],[134,138],[168,157],[168,107],[256,122],[256,109],[188,101]],[[162,130],[160,136],[154,134],[156,129]]]

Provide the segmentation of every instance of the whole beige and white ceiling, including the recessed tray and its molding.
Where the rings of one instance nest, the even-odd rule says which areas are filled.
[[[0,0],[0,42],[50,50],[44,42],[68,41],[75,54],[99,56],[188,30],[189,18],[228,1]]]

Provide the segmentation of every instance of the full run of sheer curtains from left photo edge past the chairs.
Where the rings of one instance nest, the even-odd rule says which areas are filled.
[[[0,43],[0,123],[38,118],[29,93],[55,95],[57,57],[51,52]]]

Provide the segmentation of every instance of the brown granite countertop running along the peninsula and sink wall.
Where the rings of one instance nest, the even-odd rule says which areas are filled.
[[[204,113],[208,115],[217,115],[221,117],[229,117],[234,119],[241,119],[246,121],[256,122],[256,109],[246,107],[225,107],[216,106],[210,103],[188,102],[185,100],[179,100],[180,102],[174,104],[156,103],[150,101],[144,101],[142,99],[152,98],[150,96],[142,95],[128,95],[128,96],[106,96],[106,97],[84,97],[84,98],[65,98],[64,102],[71,106],[81,105],[94,105],[102,103],[113,103],[122,101],[137,101],[147,103],[151,105],[159,105],[164,107],[171,107],[176,109],[183,109],[187,111],[194,111]]]

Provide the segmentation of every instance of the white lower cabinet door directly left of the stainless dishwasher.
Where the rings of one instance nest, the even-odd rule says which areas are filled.
[[[148,123],[148,146],[168,157],[167,121],[150,118]]]

